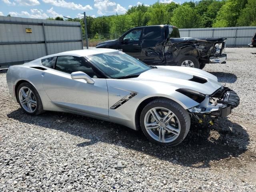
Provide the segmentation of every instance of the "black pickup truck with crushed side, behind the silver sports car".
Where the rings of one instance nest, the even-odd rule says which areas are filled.
[[[178,65],[204,68],[207,63],[224,63],[226,38],[180,38],[177,27],[142,26],[120,38],[101,42],[96,48],[121,50],[148,65]]]

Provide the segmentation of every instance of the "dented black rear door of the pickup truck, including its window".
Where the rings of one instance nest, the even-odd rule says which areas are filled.
[[[164,61],[163,42],[165,38],[163,26],[145,27],[142,35],[140,58],[146,64],[158,64]]]

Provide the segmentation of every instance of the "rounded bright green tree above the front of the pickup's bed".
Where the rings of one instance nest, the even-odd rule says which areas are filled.
[[[200,15],[198,15],[198,13],[188,4],[182,4],[182,6],[176,8],[170,22],[178,28],[201,27]]]

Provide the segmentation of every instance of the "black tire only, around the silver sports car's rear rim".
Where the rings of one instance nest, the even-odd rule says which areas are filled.
[[[22,87],[27,87],[27,88],[29,88],[29,89],[32,91],[32,93],[33,93],[33,95],[34,95],[34,97],[35,97],[35,99],[36,99],[36,108],[35,108],[35,110],[34,110],[33,112],[28,112],[28,111],[26,111],[26,110],[23,108],[22,104],[20,103],[19,91],[20,91],[20,89],[21,89]],[[44,112],[42,100],[41,100],[41,98],[40,98],[40,96],[39,96],[39,94],[38,94],[36,88],[34,88],[34,86],[32,86],[32,84],[30,84],[30,83],[28,83],[28,82],[24,82],[24,83],[20,84],[20,85],[18,86],[18,88],[17,88],[16,96],[17,96],[17,101],[18,101],[18,103],[20,104],[20,108],[21,108],[25,113],[30,114],[30,115],[39,115],[39,114],[41,114],[42,112]]]

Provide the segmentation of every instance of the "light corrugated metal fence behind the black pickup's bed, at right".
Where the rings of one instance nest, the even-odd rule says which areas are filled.
[[[181,37],[223,37],[226,46],[247,46],[256,33],[256,26],[179,29]]]

